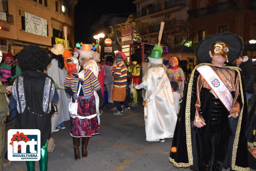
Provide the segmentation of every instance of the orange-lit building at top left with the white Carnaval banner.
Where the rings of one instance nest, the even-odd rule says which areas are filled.
[[[64,39],[63,26],[68,28],[67,39],[73,47],[76,3],[77,0],[1,0],[1,50],[17,54],[30,44],[49,49],[55,38]]]

